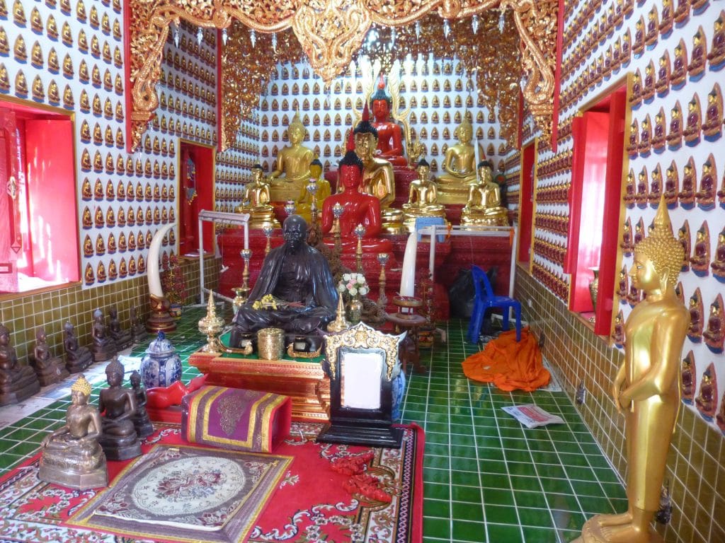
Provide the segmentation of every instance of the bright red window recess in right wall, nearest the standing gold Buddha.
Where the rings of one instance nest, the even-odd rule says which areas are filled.
[[[589,283],[599,268],[595,333],[609,335],[624,161],[626,85],[573,119],[568,250],[564,271],[571,274],[569,309],[594,311]]]

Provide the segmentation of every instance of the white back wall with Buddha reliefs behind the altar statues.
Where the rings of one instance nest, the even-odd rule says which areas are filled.
[[[394,64],[393,69],[397,66]],[[494,115],[476,100],[476,93],[466,90],[468,79],[462,65],[457,60],[430,58],[411,66],[410,75],[403,71],[398,76],[399,112],[410,106],[412,138],[419,138],[426,147],[431,172],[442,171],[445,152],[457,143],[454,131],[466,109],[472,116],[473,140],[479,141],[486,157],[497,167],[507,153],[505,141],[499,137]],[[318,153],[326,170],[336,169],[344,154],[339,146],[347,129],[356,122],[355,109],[363,111],[365,93],[373,85],[371,77],[363,74],[357,64],[355,74],[348,70],[334,80],[331,92],[326,93],[322,80],[306,62],[278,65],[276,77],[260,101],[260,153],[267,171],[274,169],[277,150],[288,142],[286,129],[297,108],[307,127],[305,146]],[[389,86],[386,92],[391,94]]]

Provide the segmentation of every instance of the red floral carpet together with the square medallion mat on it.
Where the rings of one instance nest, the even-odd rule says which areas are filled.
[[[395,450],[318,444],[320,424],[293,422],[289,438],[273,455],[265,455],[191,447],[178,428],[167,427],[144,440],[141,459],[109,462],[109,489],[72,490],[39,481],[35,458],[0,481],[0,542],[419,543],[424,437],[418,426],[404,428],[403,446]],[[204,462],[206,467],[191,476],[186,460],[192,455],[186,453],[192,450],[215,463]],[[233,458],[244,456],[260,465],[244,471],[242,481],[241,469],[233,468],[240,463]],[[334,468],[355,460],[363,475]],[[223,468],[239,492],[230,492],[231,483],[222,481],[215,468]],[[182,471],[184,476],[178,476]],[[134,472],[149,477],[136,478]],[[375,492],[362,492],[361,478]],[[275,482],[266,485],[270,480]],[[119,489],[123,493],[115,494]],[[202,504],[210,514],[202,513]],[[163,524],[151,521],[159,510],[167,515]],[[237,515],[239,529],[230,515]],[[85,519],[93,524],[78,523]]]

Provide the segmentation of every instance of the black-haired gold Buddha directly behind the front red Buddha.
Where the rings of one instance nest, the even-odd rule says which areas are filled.
[[[402,231],[403,212],[390,205],[395,200],[395,174],[389,161],[378,159],[378,130],[370,124],[368,105],[363,109],[363,119],[353,130],[355,153],[363,161],[363,182],[360,192],[375,196],[380,201],[383,229],[392,234]],[[349,143],[348,143],[349,148]]]

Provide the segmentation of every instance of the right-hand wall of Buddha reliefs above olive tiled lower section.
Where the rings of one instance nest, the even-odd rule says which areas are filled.
[[[632,265],[631,245],[647,235],[664,191],[674,234],[687,253],[678,292],[692,315],[682,352],[686,410],[677,424],[666,473],[673,518],[664,533],[672,542],[719,541],[725,534],[720,520],[725,513],[725,424],[718,419],[725,405],[725,236],[720,236],[725,230],[725,3],[570,0],[565,13],[558,149],[553,153],[541,140],[538,146],[531,274],[537,281],[522,279],[517,295],[525,302],[532,329],[544,337],[544,355],[556,364],[569,391],[584,382],[592,392],[582,413],[624,476],[624,419],[609,397],[623,338],[616,337],[616,327],[615,337],[597,336],[585,319],[566,310],[568,275],[562,264],[572,120],[584,104],[594,104],[610,85],[631,73],[625,224],[617,225],[624,232],[619,240],[623,275],[616,285],[614,311],[621,311],[624,321],[639,301],[639,292],[631,289],[626,277]],[[524,138],[525,143],[531,137]],[[508,160],[520,164],[521,156],[512,153]],[[515,185],[518,179],[511,175],[509,182]]]

